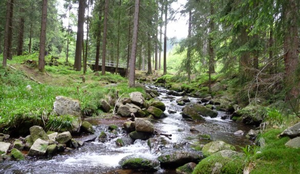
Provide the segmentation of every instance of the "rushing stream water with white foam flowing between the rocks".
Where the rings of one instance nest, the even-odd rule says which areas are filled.
[[[153,87],[153,86],[150,86]],[[222,140],[226,143],[239,146],[252,144],[253,142],[246,139],[245,136],[235,136],[236,130],[244,130],[247,133],[251,127],[242,123],[236,123],[229,119],[223,120],[222,116],[225,112],[219,112],[216,118],[206,117],[204,121],[184,121],[182,120],[183,106],[178,106],[175,100],[180,97],[170,99],[167,90],[158,88],[157,91],[162,95],[159,100],[165,103],[167,115],[166,118],[158,120],[154,123],[155,128],[162,130],[172,137],[161,136],[161,140],[165,142],[162,148],[172,148],[174,145],[187,147],[196,140],[198,134],[208,134],[213,141]],[[189,98],[191,102],[199,102],[198,98]],[[175,111],[175,114],[169,114],[168,110]],[[102,120],[93,120],[93,123],[103,122]],[[119,127],[122,126],[123,120],[118,120]],[[190,132],[190,127],[194,126],[199,133]],[[96,133],[99,135],[101,131],[107,132],[107,125],[95,125]],[[127,144],[125,147],[119,147],[115,144],[117,138],[122,137]],[[207,142],[202,142],[207,143]],[[139,173],[131,170],[122,170],[119,161],[126,156],[134,155],[147,159],[156,159],[161,155],[161,151],[153,151],[147,145],[147,141],[136,140],[132,142],[128,134],[121,128],[118,130],[117,137],[112,137],[110,141],[102,143],[98,140],[94,142],[86,142],[84,146],[74,149],[70,152],[62,153],[54,157],[48,158],[29,158],[25,161],[4,161],[0,163],[0,173]],[[145,173],[145,172],[141,172]],[[174,170],[159,169],[156,173],[174,173]]]

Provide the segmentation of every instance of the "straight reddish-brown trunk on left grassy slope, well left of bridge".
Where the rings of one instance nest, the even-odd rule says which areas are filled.
[[[39,37],[39,56],[38,56],[38,70],[45,72],[45,46],[46,46],[46,24],[47,24],[47,1],[43,0],[42,5],[42,25],[41,36]]]

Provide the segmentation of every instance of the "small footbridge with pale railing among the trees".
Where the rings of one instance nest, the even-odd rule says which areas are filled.
[[[88,66],[92,70],[95,70],[95,60],[88,60]],[[102,62],[99,62],[99,70],[101,70]],[[115,73],[116,69],[116,62],[114,61],[107,61],[105,62],[105,71],[110,73]],[[126,70],[127,70],[127,63],[118,63],[118,73],[125,77],[126,76]]]

